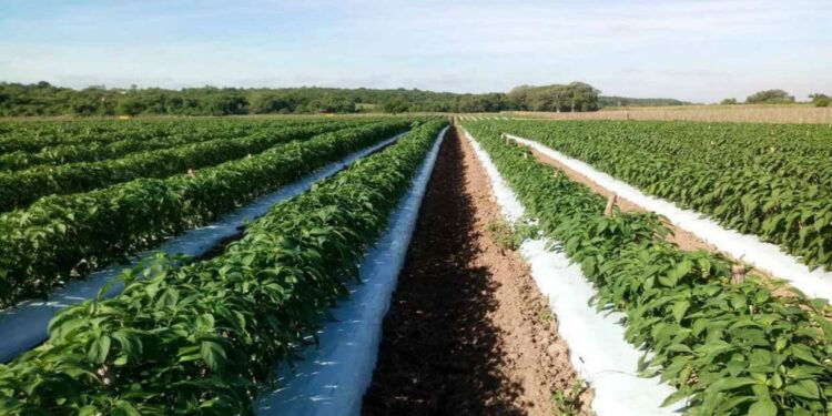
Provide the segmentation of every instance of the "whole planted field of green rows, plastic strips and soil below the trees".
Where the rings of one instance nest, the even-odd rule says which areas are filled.
[[[802,268],[732,256],[598,173]],[[413,199],[405,240],[379,245]],[[156,252],[256,204],[196,255]],[[0,414],[832,412],[832,308],[791,275],[832,283],[829,125],[0,121],[0,352],[12,319],[38,328],[0,366]],[[382,284],[378,250],[397,282],[351,306],[377,318],[344,318]],[[327,355],[355,339],[371,365]]]

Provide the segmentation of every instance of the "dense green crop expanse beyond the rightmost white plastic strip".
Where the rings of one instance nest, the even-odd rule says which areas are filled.
[[[711,134],[719,132],[719,124],[707,123],[486,123],[587,162],[648,194],[707,214],[726,227],[755,234],[810,267],[832,270],[832,159],[820,156],[832,153],[832,129],[771,128],[830,131],[802,141],[737,133],[717,142]],[[741,131],[730,126],[733,130],[729,132]],[[748,129],[759,133],[765,126],[750,124]],[[673,133],[676,130],[684,134]],[[732,141],[742,148],[726,144]],[[724,161],[719,162],[716,154]],[[743,162],[743,158],[751,161]],[[816,176],[804,176],[801,169]]]

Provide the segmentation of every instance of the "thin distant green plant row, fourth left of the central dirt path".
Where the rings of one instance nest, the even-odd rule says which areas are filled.
[[[202,123],[193,121],[184,125],[155,125],[155,123],[143,122],[148,132],[139,139],[126,136],[114,142],[101,142],[89,140],[84,142],[71,142],[44,146],[37,152],[18,150],[0,154],[0,171],[20,171],[38,165],[60,165],[74,162],[95,162],[102,160],[123,158],[130,153],[169,149],[190,143],[204,142],[214,139],[234,139],[250,135],[260,129],[271,125],[300,126],[324,122],[326,119],[266,119],[266,120],[206,120]],[[28,135],[18,132],[21,139]],[[23,139],[24,140],[24,139]]]

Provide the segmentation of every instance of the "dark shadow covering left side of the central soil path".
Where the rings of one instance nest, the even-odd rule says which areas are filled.
[[[471,266],[474,205],[463,149],[449,130],[423,202],[363,415],[524,415],[522,392],[499,371],[500,336],[487,314],[495,283]]]

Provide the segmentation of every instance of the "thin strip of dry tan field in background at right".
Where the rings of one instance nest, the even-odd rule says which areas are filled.
[[[555,120],[686,120],[832,124],[832,108],[809,105],[680,105],[608,108],[585,113],[515,111],[511,115]]]

